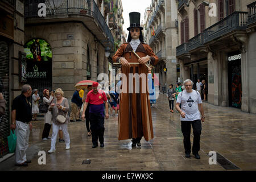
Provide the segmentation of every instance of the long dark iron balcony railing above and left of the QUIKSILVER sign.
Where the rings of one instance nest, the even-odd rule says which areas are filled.
[[[213,39],[219,38],[233,30],[245,30],[247,21],[247,12],[235,11],[226,16],[226,18],[213,24],[204,30],[204,43],[210,42]]]

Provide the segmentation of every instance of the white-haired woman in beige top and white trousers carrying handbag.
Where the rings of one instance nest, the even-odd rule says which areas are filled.
[[[49,154],[52,152],[55,152],[55,144],[57,140],[57,135],[60,130],[60,127],[64,134],[64,140],[66,144],[66,150],[70,148],[70,139],[68,134],[68,122],[69,122],[69,105],[67,98],[63,97],[64,92],[63,90],[56,89],[55,90],[55,99],[52,101],[52,104],[49,106],[48,110],[52,111],[52,141],[51,141],[51,149],[48,151]],[[64,122],[60,122],[59,119],[57,119],[58,115],[63,115]]]

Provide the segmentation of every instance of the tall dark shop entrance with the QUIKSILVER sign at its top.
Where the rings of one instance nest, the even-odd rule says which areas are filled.
[[[229,106],[241,109],[241,52],[228,53]]]

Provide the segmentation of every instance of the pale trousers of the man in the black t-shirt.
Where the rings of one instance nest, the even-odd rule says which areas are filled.
[[[22,164],[27,161],[26,151],[28,147],[28,139],[30,137],[30,125],[21,121],[16,121],[16,164]]]

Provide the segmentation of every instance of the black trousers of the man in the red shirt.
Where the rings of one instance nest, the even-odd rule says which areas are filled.
[[[104,143],[104,117],[100,113],[90,113],[90,130],[92,131],[92,143]]]

